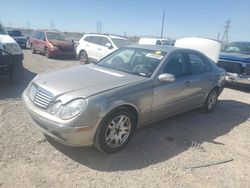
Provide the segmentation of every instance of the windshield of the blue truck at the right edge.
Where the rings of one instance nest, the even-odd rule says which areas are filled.
[[[234,42],[227,45],[224,52],[250,54],[250,42]]]

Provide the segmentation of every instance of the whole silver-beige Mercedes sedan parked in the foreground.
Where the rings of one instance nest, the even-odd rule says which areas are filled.
[[[198,51],[133,45],[96,65],[38,75],[23,101],[46,135],[112,153],[135,128],[196,108],[212,112],[224,77],[224,69]]]

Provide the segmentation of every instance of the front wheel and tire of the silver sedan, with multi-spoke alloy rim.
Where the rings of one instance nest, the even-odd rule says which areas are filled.
[[[94,144],[104,153],[118,152],[129,142],[135,126],[136,118],[131,111],[119,108],[103,119],[97,129]]]

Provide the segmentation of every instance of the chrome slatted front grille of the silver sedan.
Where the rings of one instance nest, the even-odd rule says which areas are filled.
[[[30,100],[38,107],[42,109],[48,108],[50,102],[53,99],[53,95],[45,89],[32,84],[29,89]]]

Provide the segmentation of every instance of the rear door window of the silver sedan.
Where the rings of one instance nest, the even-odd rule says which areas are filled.
[[[191,71],[193,74],[206,72],[212,69],[209,62],[197,54],[189,54],[189,60],[191,64]]]

